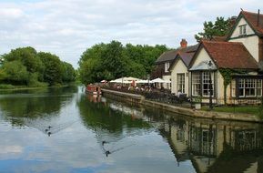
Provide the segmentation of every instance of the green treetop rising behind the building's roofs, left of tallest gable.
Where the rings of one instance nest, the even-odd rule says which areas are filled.
[[[225,20],[224,17],[220,16],[217,17],[215,23],[206,21],[203,30],[204,32],[195,35],[197,42],[200,42],[202,39],[211,40],[213,36],[226,36],[230,30],[229,18]]]

